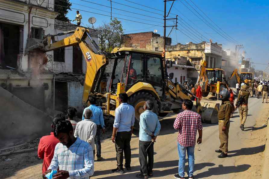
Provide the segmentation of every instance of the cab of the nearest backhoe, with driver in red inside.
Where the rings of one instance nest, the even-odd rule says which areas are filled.
[[[114,65],[109,91],[117,90],[117,83],[125,83],[125,91],[137,83],[153,86],[158,96],[163,95],[164,70],[161,54],[131,51],[122,48],[114,53]]]

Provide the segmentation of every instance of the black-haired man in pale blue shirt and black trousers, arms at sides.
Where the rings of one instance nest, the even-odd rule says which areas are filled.
[[[125,157],[125,168],[131,170],[131,136],[134,127],[134,107],[127,104],[126,93],[119,94],[120,105],[115,110],[115,120],[111,140],[116,146],[117,168],[113,173],[124,173],[123,152]]]

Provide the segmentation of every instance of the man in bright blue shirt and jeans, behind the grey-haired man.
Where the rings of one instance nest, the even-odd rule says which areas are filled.
[[[101,131],[102,133],[105,133],[105,123],[104,123],[104,117],[103,117],[103,111],[101,108],[96,106],[96,99],[93,96],[89,96],[90,106],[85,108],[82,115],[82,120],[84,120],[84,112],[87,109],[90,109],[93,112],[92,117],[90,118],[97,126],[96,135],[94,138],[94,143],[96,145],[96,156],[97,161],[102,160],[101,157]],[[94,149],[93,149],[94,150]]]

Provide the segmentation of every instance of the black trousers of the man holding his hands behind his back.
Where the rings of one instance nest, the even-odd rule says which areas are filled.
[[[141,166],[141,173],[144,176],[147,174],[152,173],[153,169],[153,148],[154,142],[146,142],[139,140],[139,163]],[[147,150],[147,151],[146,151]],[[148,158],[148,160],[147,160]]]

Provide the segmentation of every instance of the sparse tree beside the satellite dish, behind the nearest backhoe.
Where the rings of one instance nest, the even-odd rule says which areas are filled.
[[[111,52],[115,47],[120,47],[125,42],[125,39],[122,38],[123,31],[121,21],[116,18],[109,23],[103,22],[97,28],[100,49]]]

